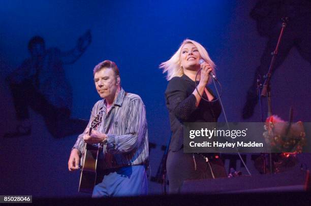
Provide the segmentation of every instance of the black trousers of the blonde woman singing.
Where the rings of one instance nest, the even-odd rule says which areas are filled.
[[[209,159],[211,169],[200,154],[183,153],[183,148],[169,151],[166,168],[169,179],[169,193],[179,193],[184,180],[211,179],[211,169],[215,178],[227,177],[220,158]]]

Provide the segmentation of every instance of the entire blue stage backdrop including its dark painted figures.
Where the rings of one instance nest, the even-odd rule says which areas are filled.
[[[70,173],[67,162],[99,100],[92,69],[104,59],[117,63],[122,87],[144,101],[149,190],[161,193],[160,163],[171,133],[159,64],[185,38],[200,42],[216,63],[228,121],[261,121],[254,76],[268,70],[284,14],[290,16],[271,79],[273,114],[288,120],[293,106],[294,121],[310,121],[308,8],[309,1],[1,1],[0,193],[83,196],[79,173]],[[258,173],[258,156],[242,157]],[[228,170],[246,174],[237,155],[222,158]],[[299,156],[307,166],[310,159]]]

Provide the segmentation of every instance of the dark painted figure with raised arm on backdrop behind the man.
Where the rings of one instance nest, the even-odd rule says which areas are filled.
[[[18,123],[16,131],[6,133],[5,137],[31,133],[28,107],[43,116],[54,138],[77,134],[85,128],[87,122],[70,118],[72,89],[66,80],[63,64],[77,61],[90,42],[90,30],[78,39],[75,48],[67,52],[58,48],[46,49],[42,37],[30,39],[30,57],[7,77]]]

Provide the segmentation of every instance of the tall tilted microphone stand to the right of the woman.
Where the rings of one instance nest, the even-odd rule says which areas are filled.
[[[281,28],[281,32],[279,33],[279,37],[277,40],[277,44],[275,47],[275,50],[271,53],[272,55],[272,59],[270,62],[270,66],[269,66],[269,70],[268,73],[265,75],[265,81],[262,87],[262,91],[261,91],[261,97],[266,97],[268,95],[268,117],[270,117],[272,115],[272,109],[271,109],[271,86],[270,86],[270,80],[271,80],[271,72],[272,72],[272,68],[275,62],[275,58],[276,55],[278,53],[278,48],[279,45],[281,44],[281,40],[283,37],[283,33],[284,33],[284,29],[287,26],[287,22],[288,22],[288,17],[283,17],[282,18],[282,28]],[[269,161],[270,161],[270,174],[272,174],[272,171],[274,170],[274,168],[272,168],[272,154],[271,152],[269,153]]]

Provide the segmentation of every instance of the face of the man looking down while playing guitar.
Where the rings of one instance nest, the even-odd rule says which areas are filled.
[[[120,77],[115,76],[111,68],[103,68],[94,74],[94,82],[98,94],[106,99],[113,100],[120,84]]]

